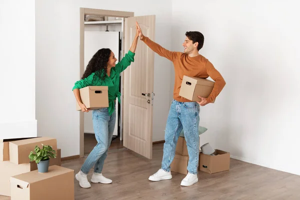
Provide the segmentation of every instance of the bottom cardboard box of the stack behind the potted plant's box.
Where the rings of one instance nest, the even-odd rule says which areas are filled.
[[[57,157],[50,158],[49,165],[61,164],[61,150],[57,149]],[[24,164],[15,164],[10,161],[0,161],[0,195],[10,196],[10,182],[11,176],[26,173],[37,169],[35,161]]]

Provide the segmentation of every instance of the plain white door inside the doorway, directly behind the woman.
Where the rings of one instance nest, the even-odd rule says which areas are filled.
[[[84,70],[90,58],[100,48],[110,48],[114,56],[119,60],[119,32],[117,31],[84,31]],[[116,99],[116,105],[117,105]],[[115,106],[117,113],[118,107]],[[91,111],[84,112],[84,132],[94,133]],[[117,115],[116,115],[117,116]],[[117,135],[117,121],[115,122],[113,135]]]

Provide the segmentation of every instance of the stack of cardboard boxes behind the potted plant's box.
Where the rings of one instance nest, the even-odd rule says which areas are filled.
[[[30,162],[28,155],[34,147],[50,145],[57,157],[50,158],[49,165],[60,165],[61,151],[57,149],[55,138],[34,137],[21,139],[0,139],[0,195],[10,196],[10,177],[37,170],[35,161]]]

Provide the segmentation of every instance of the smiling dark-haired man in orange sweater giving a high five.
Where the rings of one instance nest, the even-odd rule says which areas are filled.
[[[212,102],[225,86],[225,81],[211,62],[198,53],[204,42],[204,36],[202,33],[198,31],[186,32],[186,38],[182,44],[184,49],[182,53],[169,51],[161,47],[159,44],[144,36],[139,26],[138,29],[138,36],[140,39],[154,52],[172,61],[175,69],[173,100],[166,122],[161,168],[151,175],[149,180],[159,181],[172,178],[170,164],[175,155],[175,148],[179,133],[183,128],[189,160],[187,166],[188,173],[181,181],[181,185],[190,186],[198,181],[199,105],[204,106],[207,103]],[[200,78],[207,78],[210,76],[215,81],[210,95],[207,98],[198,96],[201,99],[199,102],[192,102],[182,96],[179,96],[183,75]]]

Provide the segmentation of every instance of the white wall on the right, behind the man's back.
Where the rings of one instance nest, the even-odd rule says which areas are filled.
[[[172,48],[187,30],[204,34],[199,52],[226,85],[201,108],[201,142],[232,157],[300,174],[300,12],[294,0],[181,0],[172,4]]]

